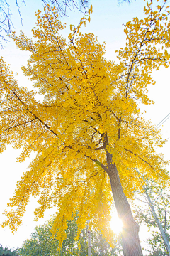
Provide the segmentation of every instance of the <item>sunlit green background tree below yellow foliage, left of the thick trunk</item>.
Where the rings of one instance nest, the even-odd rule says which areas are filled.
[[[52,221],[40,225],[35,228],[35,232],[31,234],[30,239],[23,242],[21,248],[18,249],[18,255],[20,256],[50,256],[50,255],[87,255],[87,230],[81,230],[79,240],[75,240],[77,237],[77,223],[76,219],[68,221],[68,228],[66,230],[67,239],[62,244],[62,249],[57,252],[57,246],[59,241],[56,238],[52,238],[52,225],[55,218]],[[101,233],[92,233],[92,255],[93,256],[118,256],[123,255],[120,249],[120,235],[118,235],[118,242],[115,243],[115,247],[111,248],[108,242],[102,237]]]

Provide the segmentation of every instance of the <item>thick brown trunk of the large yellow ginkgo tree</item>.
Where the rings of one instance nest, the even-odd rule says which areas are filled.
[[[111,164],[112,155],[107,152],[108,175],[111,180],[111,189],[118,217],[123,222],[122,246],[124,256],[142,256],[140,246],[139,225],[135,222],[128,199],[123,192],[118,170],[115,164]]]

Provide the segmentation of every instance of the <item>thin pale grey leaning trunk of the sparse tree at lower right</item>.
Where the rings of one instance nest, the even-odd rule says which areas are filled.
[[[165,246],[166,246],[166,250],[167,250],[167,252],[168,252],[169,255],[170,255],[169,240],[168,240],[168,238],[166,237],[166,233],[165,233],[165,231],[164,231],[164,228],[162,227],[162,224],[160,223],[159,218],[157,217],[157,213],[156,213],[155,210],[154,210],[154,205],[153,205],[153,203],[152,203],[152,201],[151,201],[151,198],[150,198],[149,194],[147,193],[147,190],[146,190],[146,189],[145,189],[145,194],[147,195],[147,200],[149,201],[149,206],[150,206],[150,208],[151,208],[151,210],[152,210],[152,216],[154,217],[154,220],[156,220],[157,226],[158,226],[158,228],[159,228],[159,230],[160,230],[160,232],[161,232],[161,234],[162,234],[162,238],[163,238],[163,240],[164,240],[164,244],[165,244]]]

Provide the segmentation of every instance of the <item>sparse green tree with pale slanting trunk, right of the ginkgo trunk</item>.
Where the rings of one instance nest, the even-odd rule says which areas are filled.
[[[170,255],[170,195],[164,186],[148,179],[143,193],[137,198],[146,203],[146,208],[136,211],[138,223],[147,225],[151,233],[147,244],[151,248],[149,256]],[[141,197],[142,196],[142,197]]]

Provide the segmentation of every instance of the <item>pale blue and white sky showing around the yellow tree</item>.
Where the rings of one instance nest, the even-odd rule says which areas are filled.
[[[117,0],[91,0],[90,5],[93,5],[93,14],[91,14],[91,22],[86,24],[86,28],[83,28],[84,33],[94,33],[98,37],[98,41],[106,42],[106,58],[116,60],[115,50],[119,50],[120,47],[125,46],[125,33],[123,32],[123,24],[130,21],[133,17],[137,16],[142,18],[143,8],[145,1],[137,0],[131,4],[118,5]],[[18,14],[18,10],[15,5],[15,1],[10,0],[8,4],[11,6],[13,16],[13,26],[16,33],[20,30],[31,37],[31,29],[35,26],[35,11],[42,10],[42,2],[40,0],[26,0],[26,6],[21,4],[21,15],[23,18],[23,26],[21,25],[21,19]],[[67,13],[69,17],[62,18],[62,21],[67,23],[66,32],[64,36],[69,32],[69,24],[77,25],[82,16],[78,11],[72,11]],[[9,40],[8,44],[4,44],[4,50],[0,50],[0,56],[4,57],[6,63],[11,64],[11,70],[14,73],[18,73],[18,85],[32,88],[32,83],[23,76],[21,66],[26,65],[28,59],[28,53],[24,53],[15,48],[13,41]],[[170,112],[169,103],[169,73],[170,68],[160,68],[159,71],[153,72],[156,85],[148,86],[149,97],[154,100],[154,105],[141,107],[141,110],[146,110],[146,119],[150,119],[152,124],[159,124],[159,122],[166,117]],[[170,116],[169,116],[170,117]],[[164,122],[164,125],[160,127],[162,129],[162,137],[167,139],[170,137],[170,118]],[[157,148],[157,152],[164,154],[165,159],[170,159],[169,150],[170,139],[164,144],[163,148]],[[13,191],[16,188],[16,181],[18,181],[23,173],[27,170],[27,166],[33,155],[29,159],[26,159],[23,163],[16,162],[16,158],[19,156],[21,150],[15,150],[11,146],[8,146],[3,154],[0,154],[0,222],[5,220],[2,214],[6,208],[9,198],[13,196]],[[169,167],[168,167],[169,168]],[[17,233],[14,235],[9,228],[0,228],[0,243],[1,245],[8,247],[19,247],[22,242],[29,238],[30,233],[33,232],[35,225],[43,224],[50,218],[50,215],[55,213],[57,209],[47,210],[45,218],[33,222],[33,210],[36,206],[35,198],[31,198],[31,202],[26,208],[26,215],[23,218],[23,225],[18,228]],[[116,216],[114,219],[116,222]],[[143,228],[140,233],[140,238],[146,237],[146,230]]]

